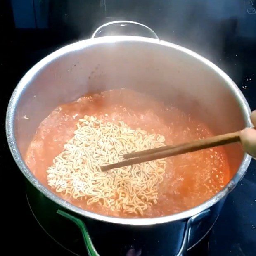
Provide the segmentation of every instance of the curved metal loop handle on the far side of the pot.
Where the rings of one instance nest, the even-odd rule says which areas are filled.
[[[105,24],[99,26],[94,31],[94,33],[92,34],[92,38],[101,37],[100,34],[104,33],[104,30],[106,31],[105,33],[107,33],[108,28],[111,28],[111,30],[112,30],[113,27],[117,27],[117,28],[120,28],[120,27],[128,28],[128,27],[130,27],[130,28],[133,28],[133,27],[136,27],[136,26],[140,27],[140,28],[144,28],[144,32],[149,33],[149,35],[150,35],[149,37],[159,39],[158,36],[156,35],[156,33],[151,28],[149,28],[148,26],[146,26],[144,24],[135,22],[135,21],[111,21],[111,22],[105,23]]]

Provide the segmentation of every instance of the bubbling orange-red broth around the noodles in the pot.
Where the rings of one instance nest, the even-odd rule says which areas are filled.
[[[111,122],[124,121],[131,128],[140,127],[149,133],[159,133],[165,136],[168,145],[213,136],[201,121],[138,92],[121,89],[85,95],[52,111],[40,123],[28,147],[26,164],[49,189],[46,170],[62,152],[65,142],[73,137],[76,123],[84,115]],[[197,206],[219,192],[229,178],[229,165],[223,147],[170,157],[167,159],[164,181],[159,185],[158,203],[147,209],[143,217],[170,215]],[[88,211],[110,216],[139,217],[103,209],[97,203],[88,206],[84,199],[75,200],[63,194],[58,196]]]

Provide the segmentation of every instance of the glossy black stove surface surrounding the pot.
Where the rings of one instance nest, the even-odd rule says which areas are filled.
[[[8,254],[75,255],[55,242],[33,216],[24,178],[14,163],[5,138],[5,111],[20,78],[40,59],[71,42],[89,38],[99,25],[133,20],[151,27],[160,39],[187,47],[223,69],[256,109],[256,1],[254,0],[3,0],[0,68],[0,172],[3,246]],[[211,232],[188,255],[256,255],[256,163],[253,160],[239,185],[228,195]],[[5,180],[12,178],[12,187]],[[39,221],[39,223],[38,223]],[[42,228],[42,226],[43,228]],[[67,224],[68,225],[68,224]],[[45,229],[45,230],[44,230]],[[49,235],[45,232],[47,231]],[[86,255],[74,231],[80,255]],[[65,236],[64,234],[62,234]],[[52,237],[50,237],[52,236]],[[74,238],[76,239],[76,238]],[[164,239],[164,238],[163,238]],[[168,243],[168,241],[166,241]],[[65,246],[65,245],[64,245]],[[102,242],[102,247],[107,247]],[[119,245],[116,244],[118,247]],[[71,248],[71,247],[70,247]],[[147,248],[127,244],[119,255],[144,255]],[[116,255],[113,253],[113,255]]]

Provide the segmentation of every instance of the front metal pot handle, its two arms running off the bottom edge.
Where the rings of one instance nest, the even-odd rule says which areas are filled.
[[[178,252],[178,254],[176,254],[176,256],[185,256],[187,248],[188,248],[188,241],[189,241],[189,236],[190,236],[190,229],[193,223],[197,223],[199,222],[202,218],[208,216],[210,213],[209,209],[206,209],[204,211],[202,211],[201,213],[198,213],[192,217],[190,217],[187,220],[187,223],[185,225],[185,229],[184,229],[184,233],[183,233],[183,242],[181,244],[180,247],[180,251]],[[82,234],[83,234],[83,240],[88,252],[89,256],[100,256],[95,247],[93,246],[92,240],[90,238],[90,235],[88,233],[88,230],[85,226],[85,223],[80,220],[79,218],[76,218],[75,216],[72,216],[69,213],[66,213],[65,211],[62,210],[58,210],[57,214],[64,216],[65,218],[68,218],[69,220],[73,221],[74,223],[76,223],[76,225],[78,226],[78,228],[80,228]]]

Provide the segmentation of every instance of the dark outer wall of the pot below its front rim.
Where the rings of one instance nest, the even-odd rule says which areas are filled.
[[[57,215],[62,209],[58,204],[27,183],[27,198],[31,210],[43,229],[66,249],[78,255],[85,254],[82,234],[75,224]],[[210,213],[194,223],[190,229],[188,248],[199,242],[212,228],[225,199],[211,207]],[[157,225],[132,226],[106,223],[91,218],[70,214],[83,220],[97,252],[101,255],[120,255],[129,247],[140,248],[143,255],[176,255],[183,242],[185,220]]]

